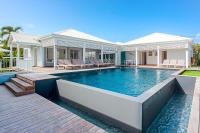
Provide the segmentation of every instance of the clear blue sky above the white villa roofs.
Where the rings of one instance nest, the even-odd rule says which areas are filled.
[[[45,35],[73,28],[127,42],[161,32],[200,37],[200,0],[0,0],[0,27]]]

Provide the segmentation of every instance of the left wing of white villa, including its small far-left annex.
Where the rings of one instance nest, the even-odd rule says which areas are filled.
[[[102,63],[119,65],[121,47],[92,35],[73,29],[55,32],[46,36],[31,36],[24,33],[13,33],[10,47],[24,50],[24,57],[17,55],[19,69],[32,70],[32,67],[53,67],[58,69],[59,62],[73,60],[81,65],[95,60]],[[12,62],[13,54],[10,58]],[[64,64],[67,65],[67,64]],[[28,68],[28,69],[27,69]]]

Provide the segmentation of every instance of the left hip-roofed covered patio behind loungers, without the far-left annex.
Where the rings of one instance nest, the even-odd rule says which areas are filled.
[[[59,65],[59,60],[79,60],[82,64],[90,64],[91,60],[98,60],[102,63],[112,63],[118,65],[120,57],[120,47],[115,44],[92,38],[84,38],[85,34],[79,33],[79,38],[69,37],[71,31],[64,31],[41,38],[45,67]],[[73,35],[78,34],[73,31]]]

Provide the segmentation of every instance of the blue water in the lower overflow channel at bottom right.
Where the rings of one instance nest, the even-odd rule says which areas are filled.
[[[191,104],[191,95],[175,93],[147,133],[187,133]]]

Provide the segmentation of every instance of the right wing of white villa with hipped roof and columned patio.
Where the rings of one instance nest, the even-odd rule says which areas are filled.
[[[124,45],[124,64],[188,68],[191,65],[191,44],[189,38],[154,33]]]

